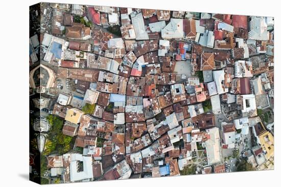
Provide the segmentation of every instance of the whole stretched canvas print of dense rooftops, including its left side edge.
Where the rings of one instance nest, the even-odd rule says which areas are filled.
[[[30,7],[30,179],[274,168],[274,18]]]

